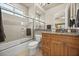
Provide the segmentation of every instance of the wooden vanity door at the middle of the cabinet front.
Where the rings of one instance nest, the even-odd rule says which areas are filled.
[[[64,45],[62,42],[52,41],[51,43],[51,55],[62,56],[64,53]]]

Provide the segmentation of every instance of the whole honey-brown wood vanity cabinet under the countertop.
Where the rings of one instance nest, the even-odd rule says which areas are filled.
[[[43,33],[44,56],[79,56],[79,36]]]

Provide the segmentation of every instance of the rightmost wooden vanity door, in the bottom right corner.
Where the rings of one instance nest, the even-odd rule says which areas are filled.
[[[68,56],[79,56],[79,46],[75,44],[67,44],[67,55]]]

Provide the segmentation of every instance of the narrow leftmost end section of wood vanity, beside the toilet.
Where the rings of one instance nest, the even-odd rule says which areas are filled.
[[[42,54],[44,56],[50,56],[50,46],[51,44],[49,43],[50,42],[50,35],[47,35],[45,34],[43,37],[42,37],[42,41],[41,41],[41,49],[42,49]]]

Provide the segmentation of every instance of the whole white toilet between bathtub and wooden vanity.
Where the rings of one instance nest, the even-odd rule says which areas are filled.
[[[33,56],[36,53],[39,42],[41,41],[41,35],[35,35],[35,40],[28,44],[29,55]]]

